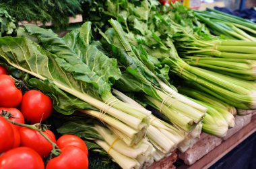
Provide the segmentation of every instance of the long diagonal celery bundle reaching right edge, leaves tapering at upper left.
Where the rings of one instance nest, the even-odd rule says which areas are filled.
[[[162,63],[170,65],[171,71],[185,79],[191,86],[195,86],[227,104],[244,109],[256,108],[256,91],[253,81],[243,81],[214,71],[193,67],[179,58],[165,59]]]

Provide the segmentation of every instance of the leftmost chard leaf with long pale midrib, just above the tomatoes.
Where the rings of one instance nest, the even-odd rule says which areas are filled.
[[[53,81],[56,86],[69,92],[69,94],[78,93],[79,96],[81,96],[80,99],[82,99],[82,96],[87,92],[89,92],[90,95],[93,95],[90,93],[90,91],[93,90],[86,90],[88,88],[86,83],[75,79],[71,73],[59,66],[59,64],[65,66],[65,61],[63,61],[63,59],[59,59],[55,55],[47,52],[28,38],[0,38],[0,58],[9,63],[9,65],[25,71],[38,79],[49,79],[50,81]],[[44,81],[44,83],[46,82]],[[44,90],[45,87],[42,86],[44,83],[38,83],[38,88]],[[37,86],[37,84],[34,85]],[[63,96],[60,96],[59,99],[64,99],[66,97],[65,94],[61,95]],[[79,103],[78,100],[76,101]],[[76,101],[74,102],[77,103]],[[57,103],[58,100],[55,100],[55,102]],[[79,103],[77,105],[81,108],[86,107],[86,104],[82,105]],[[63,105],[61,107],[63,107]],[[88,106],[88,108],[90,108],[90,106]],[[65,114],[71,114],[71,112],[73,112],[73,109],[71,108],[67,108],[67,110],[69,112],[66,112]]]

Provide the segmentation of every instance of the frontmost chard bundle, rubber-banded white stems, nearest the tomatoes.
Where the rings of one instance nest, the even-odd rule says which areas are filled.
[[[59,88],[88,103],[90,110],[82,112],[91,114],[100,121],[106,121],[110,129],[127,141],[127,145],[139,143],[146,135],[150,112],[137,110],[111,94],[110,83],[114,83],[121,75],[117,61],[108,59],[94,45],[83,41],[83,38],[88,39],[90,36],[90,29],[86,28],[82,27],[81,32],[76,30],[77,36],[73,36],[73,40],[77,42],[73,41],[75,43],[71,48],[65,39],[59,38],[51,30],[26,26],[25,30],[20,30],[18,34],[28,38],[1,38],[1,59],[42,80],[37,80],[36,83],[46,86],[51,84],[53,88]],[[89,59],[94,62],[90,61],[90,65],[87,65],[86,61]],[[105,71],[101,71],[102,69]],[[107,71],[110,73],[106,73]],[[44,88],[40,90],[44,91]],[[51,90],[44,92],[53,95]],[[68,114],[72,112],[69,111]]]

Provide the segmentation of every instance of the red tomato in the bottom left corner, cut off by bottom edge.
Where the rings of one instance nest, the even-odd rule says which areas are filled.
[[[44,162],[34,149],[18,147],[0,157],[1,169],[44,169]]]

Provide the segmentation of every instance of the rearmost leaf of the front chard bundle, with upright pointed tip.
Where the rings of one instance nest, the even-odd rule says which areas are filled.
[[[87,43],[90,42],[90,30],[90,22],[86,22],[81,28],[66,34],[63,40],[92,71],[112,86],[121,77],[117,60],[104,55],[95,43]]]

